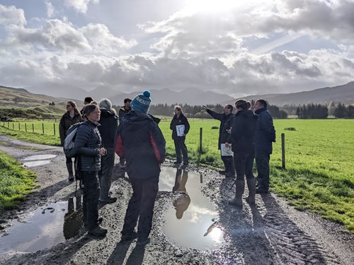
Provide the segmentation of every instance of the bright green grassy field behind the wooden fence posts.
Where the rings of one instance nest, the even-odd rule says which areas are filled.
[[[169,122],[159,124],[166,138],[169,158],[174,158]],[[42,122],[40,122],[42,123]],[[15,123],[16,124],[16,123]],[[354,120],[326,119],[275,120],[277,142],[273,144],[270,158],[271,189],[290,199],[299,210],[319,213],[346,225],[354,233]],[[3,125],[3,124],[1,124]],[[40,125],[42,126],[42,125]],[[48,122],[53,131],[53,122]],[[190,132],[186,145],[190,160],[211,167],[222,167],[217,138],[216,120],[190,119]],[[21,125],[22,127],[22,125]],[[59,145],[59,135],[32,134],[0,127],[0,133],[37,143]],[[10,126],[11,128],[11,126]],[[199,154],[200,128],[202,128],[202,153]],[[285,134],[285,163],[282,169],[281,134]],[[35,137],[33,137],[35,135]]]

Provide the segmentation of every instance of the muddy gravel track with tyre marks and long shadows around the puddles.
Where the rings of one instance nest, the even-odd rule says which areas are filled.
[[[29,155],[56,155],[46,165],[29,168],[38,174],[40,188],[17,211],[1,216],[4,229],[0,230],[0,240],[6,242],[4,231],[11,232],[11,226],[7,226],[11,221],[38,206],[67,201],[74,196],[75,184],[67,182],[62,148],[0,136],[0,150],[20,163]],[[167,161],[164,167],[171,167],[171,163]],[[111,190],[118,201],[100,208],[103,225],[108,228],[105,237],[91,237],[81,228],[71,239],[37,252],[2,254],[0,264],[354,264],[354,236],[343,232],[343,226],[297,211],[275,194],[257,194],[255,207],[244,203],[243,208],[234,208],[227,204],[234,194],[230,189],[232,179],[193,165],[190,172],[202,175],[205,184],[201,192],[219,213],[217,226],[223,231],[225,244],[218,249],[178,247],[166,236],[164,213],[172,207],[178,192],[159,192],[148,245],[137,247],[135,240],[121,243],[120,230],[132,189],[115,168]],[[176,230],[183,234],[183,227]]]

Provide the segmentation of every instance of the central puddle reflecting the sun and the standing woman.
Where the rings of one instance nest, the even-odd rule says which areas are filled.
[[[178,191],[164,214],[164,232],[179,247],[218,249],[226,244],[214,205],[200,192],[202,176],[185,170],[162,167],[159,190]]]

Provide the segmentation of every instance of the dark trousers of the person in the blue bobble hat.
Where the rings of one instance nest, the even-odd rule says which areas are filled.
[[[137,237],[145,240],[152,230],[152,216],[157,192],[159,192],[159,176],[149,179],[130,177],[133,194],[125,213],[122,235],[130,235],[137,225]]]

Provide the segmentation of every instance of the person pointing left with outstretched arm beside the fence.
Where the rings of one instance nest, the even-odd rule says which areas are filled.
[[[229,138],[229,132],[232,126],[232,122],[234,121],[234,114],[232,114],[232,110],[234,110],[234,107],[232,107],[232,105],[230,104],[227,104],[222,109],[222,113],[217,113],[213,110],[210,110],[206,106],[202,107],[207,111],[207,113],[210,114],[213,119],[218,119],[220,121],[219,141],[217,143],[217,146],[221,151],[222,143],[226,143],[227,139]],[[232,155],[221,155],[221,158],[225,166],[224,174],[227,177],[235,177],[235,167]]]

